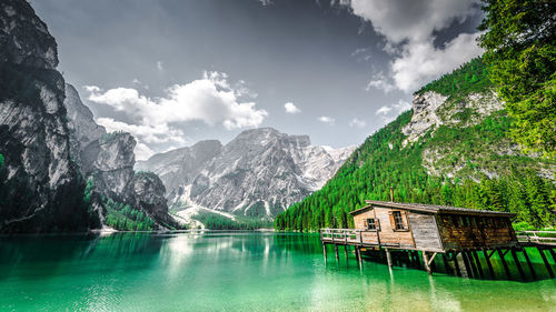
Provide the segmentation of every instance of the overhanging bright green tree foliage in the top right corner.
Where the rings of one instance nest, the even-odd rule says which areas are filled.
[[[485,61],[526,151],[556,158],[556,1],[484,0]]]

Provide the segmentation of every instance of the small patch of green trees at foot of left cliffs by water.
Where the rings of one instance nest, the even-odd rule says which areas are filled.
[[[105,200],[107,211],[106,224],[116,230],[122,231],[152,231],[156,229],[155,221],[140,210],[131,208],[129,204]]]

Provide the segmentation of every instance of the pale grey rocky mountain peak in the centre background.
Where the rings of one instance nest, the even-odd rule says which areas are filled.
[[[354,148],[311,145],[271,128],[241,132],[226,145],[202,141],[156,154],[138,170],[159,174],[171,205],[200,205],[272,218],[330,179]]]

